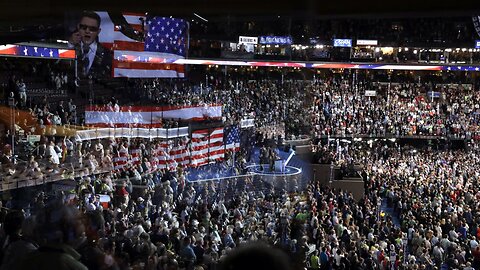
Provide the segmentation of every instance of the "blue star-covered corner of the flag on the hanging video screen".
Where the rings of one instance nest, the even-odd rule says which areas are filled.
[[[171,53],[186,56],[187,29],[185,20],[167,17],[153,17],[148,20],[145,37],[145,51]]]

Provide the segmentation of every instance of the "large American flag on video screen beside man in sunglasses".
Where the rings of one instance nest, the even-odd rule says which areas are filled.
[[[100,15],[100,28],[102,29],[99,41],[105,47],[113,50],[112,72],[114,77],[176,78],[185,76],[183,65],[169,64],[162,60],[184,58],[186,55],[188,23],[184,20],[163,17],[147,19],[145,14],[123,13],[123,18],[129,27],[139,32],[146,30],[145,42],[143,42],[140,39],[126,36],[122,32],[123,26],[114,25],[107,12],[97,12],[97,14]],[[146,22],[145,26],[142,25],[142,20]],[[159,25],[160,28],[156,26],[154,28],[153,24],[159,21],[164,22],[164,25],[167,25],[168,22],[168,26],[172,26],[174,22],[174,28],[172,26],[167,29],[162,23]],[[167,33],[167,31],[169,32]],[[164,36],[162,37],[162,35]],[[176,43],[174,42],[175,36],[177,36]],[[156,41],[157,38],[158,41]],[[161,42],[162,38],[163,43]],[[172,46],[170,46],[170,42],[172,42]],[[158,49],[157,44],[159,45]],[[165,45],[160,46],[160,44]]]

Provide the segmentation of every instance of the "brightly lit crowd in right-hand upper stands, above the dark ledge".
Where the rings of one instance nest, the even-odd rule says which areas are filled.
[[[374,96],[367,96],[373,90]],[[313,130],[322,135],[435,135],[472,138],[478,134],[478,100],[464,86],[356,84],[318,81]],[[429,96],[437,91],[437,97]]]

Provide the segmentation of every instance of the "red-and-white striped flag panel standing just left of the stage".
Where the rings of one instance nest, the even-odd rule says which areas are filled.
[[[217,160],[223,160],[224,156],[223,127],[192,132],[190,166],[206,165]]]

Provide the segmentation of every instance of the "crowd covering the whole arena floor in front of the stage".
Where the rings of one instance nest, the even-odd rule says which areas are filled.
[[[283,250],[290,269],[480,269],[480,149],[340,151],[365,168],[359,201],[317,182],[289,193],[255,179],[193,184],[181,169],[151,184],[86,172],[71,192],[2,213],[1,269],[219,269],[255,241]]]

